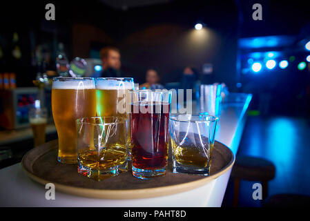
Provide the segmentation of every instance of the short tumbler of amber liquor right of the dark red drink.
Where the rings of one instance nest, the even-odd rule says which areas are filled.
[[[173,173],[210,175],[217,121],[211,115],[171,115]]]

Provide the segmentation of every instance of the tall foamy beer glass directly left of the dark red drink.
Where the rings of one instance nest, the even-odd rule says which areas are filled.
[[[130,90],[134,88],[132,77],[97,78],[97,116],[125,117],[128,119],[128,157],[130,157]],[[127,166],[124,166],[124,170]]]

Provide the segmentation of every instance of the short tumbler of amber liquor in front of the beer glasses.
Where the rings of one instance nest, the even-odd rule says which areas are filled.
[[[77,119],[78,173],[97,181],[121,173],[127,164],[127,129],[125,117]]]

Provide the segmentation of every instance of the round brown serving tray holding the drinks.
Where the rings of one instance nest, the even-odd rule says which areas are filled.
[[[140,180],[128,171],[97,182],[77,173],[76,164],[57,162],[57,149],[58,140],[32,148],[23,157],[21,162],[23,170],[36,182],[44,185],[53,183],[57,191],[88,198],[137,199],[189,191],[228,172],[235,161],[233,153],[227,146],[215,142],[209,176],[172,173],[169,160],[166,175],[161,177]]]

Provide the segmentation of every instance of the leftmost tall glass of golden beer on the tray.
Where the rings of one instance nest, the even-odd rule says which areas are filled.
[[[96,115],[96,88],[92,77],[54,77],[52,81],[52,115],[58,133],[57,160],[77,163],[75,120]]]

